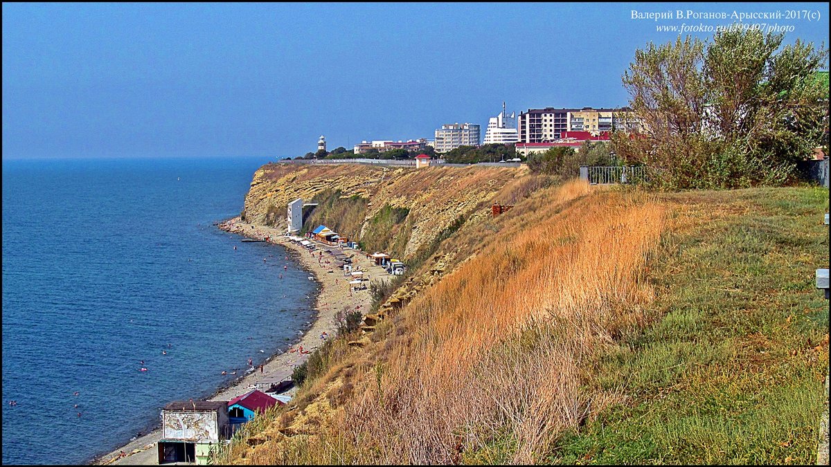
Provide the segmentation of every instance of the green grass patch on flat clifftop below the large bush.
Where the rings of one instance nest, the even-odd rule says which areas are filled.
[[[829,191],[663,194],[652,323],[588,376],[622,401],[564,433],[552,464],[813,464],[828,368]]]

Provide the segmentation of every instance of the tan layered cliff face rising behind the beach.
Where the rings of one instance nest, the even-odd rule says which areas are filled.
[[[302,198],[310,202],[321,194],[339,191],[342,198],[366,199],[365,207],[350,214],[362,216],[353,219],[360,224],[353,239],[364,240],[367,248],[396,250],[406,259],[457,219],[488,214],[494,194],[524,171],[499,167],[416,170],[357,164],[269,164],[254,173],[243,213],[253,224],[283,228],[290,201]],[[391,211],[397,214],[392,220],[388,219]],[[326,221],[325,216],[321,220]]]

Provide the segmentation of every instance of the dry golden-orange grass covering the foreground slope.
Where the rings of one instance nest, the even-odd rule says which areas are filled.
[[[477,243],[478,253],[354,357],[374,364],[352,368],[349,394],[335,395],[339,407],[317,436],[245,461],[450,464],[496,452],[489,462],[534,463],[615,397],[582,386],[587,366],[642,320],[664,218],[645,194],[573,181],[490,219],[491,230],[463,229],[450,240]],[[460,240],[474,232],[484,233]]]

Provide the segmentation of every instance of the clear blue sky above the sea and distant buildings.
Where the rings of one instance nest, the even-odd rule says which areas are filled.
[[[624,106],[635,50],[677,36],[656,26],[732,22],[632,19],[678,9],[829,46],[828,3],[3,3],[2,157],[296,156],[484,135],[502,101]]]

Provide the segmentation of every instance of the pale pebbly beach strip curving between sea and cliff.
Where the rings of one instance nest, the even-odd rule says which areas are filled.
[[[286,249],[286,254],[296,259],[301,268],[310,274],[310,278],[314,278],[318,289],[316,291],[314,308],[312,309],[312,324],[305,330],[300,330],[300,335],[295,339],[289,349],[296,349],[302,346],[304,350],[313,351],[322,342],[321,334],[326,332],[327,336],[333,338],[337,336],[337,327],[334,318],[337,312],[340,312],[343,307],[350,307],[351,310],[358,307],[361,312],[368,311],[371,305],[371,297],[369,290],[350,293],[348,288],[349,279],[345,278],[342,271],[334,269],[327,263],[318,263],[312,255],[301,246],[288,241],[288,238],[283,236],[283,232],[278,229],[265,227],[262,225],[253,225],[243,223],[239,217],[227,219],[224,222],[216,224],[217,229],[223,230],[230,234],[239,234],[247,238],[262,239],[268,237],[268,243],[273,245],[282,245]],[[316,243],[318,247],[322,245]],[[318,250],[321,251],[321,250]],[[363,271],[373,278],[385,278],[386,271],[380,266],[371,263],[366,254],[359,250],[345,250],[347,252],[354,252],[353,266],[360,266]],[[293,253],[297,253],[296,255]],[[331,260],[324,253],[324,259]],[[367,278],[369,278],[367,277]],[[219,386],[214,391],[212,396],[209,396],[206,401],[230,401],[236,396],[245,394],[253,389],[257,381],[260,380],[283,380],[290,378],[294,366],[302,364],[308,359],[310,354],[299,354],[291,351],[283,351],[282,353],[275,353],[268,356],[263,361],[263,373],[254,371],[244,373],[238,376],[229,383]],[[297,391],[296,387],[292,387],[282,394],[293,394]],[[107,454],[96,455],[87,462],[87,465],[156,465],[158,460],[156,451],[150,449],[155,446],[155,443],[161,438],[161,426],[157,422],[150,427],[140,430],[134,440],[130,440],[124,445],[120,445],[115,450],[111,450]],[[125,452],[125,457],[120,457],[120,451]]]

